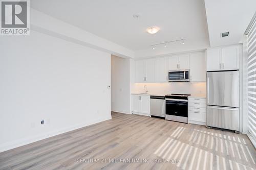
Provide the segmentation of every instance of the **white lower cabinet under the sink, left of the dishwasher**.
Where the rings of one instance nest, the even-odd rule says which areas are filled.
[[[150,116],[150,95],[132,94],[132,113]]]

